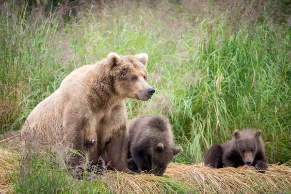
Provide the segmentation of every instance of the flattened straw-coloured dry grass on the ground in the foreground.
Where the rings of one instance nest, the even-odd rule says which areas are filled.
[[[0,193],[7,191],[11,184],[9,173],[17,165],[19,155],[7,149],[0,149]],[[165,184],[182,184],[192,188],[189,193],[201,194],[249,194],[291,192],[290,164],[271,165],[265,173],[253,168],[210,169],[203,164],[170,164],[164,177],[139,174],[129,175],[109,171],[102,178],[113,193],[157,194],[175,193]],[[177,180],[177,181],[173,181]],[[177,188],[177,187],[176,187]],[[177,191],[176,191],[177,192]]]

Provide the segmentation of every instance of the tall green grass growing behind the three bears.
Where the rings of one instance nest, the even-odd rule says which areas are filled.
[[[184,8],[125,1],[93,7],[65,22],[62,12],[44,16],[26,12],[25,3],[5,2],[0,133],[19,130],[33,107],[75,68],[110,52],[143,52],[156,93],[147,102],[127,100],[129,121],[143,114],[169,117],[176,144],[184,148],[177,162],[202,162],[211,144],[247,127],[262,130],[270,163],[289,161],[290,27],[260,17],[252,28],[247,22],[233,28],[229,15],[209,17]]]

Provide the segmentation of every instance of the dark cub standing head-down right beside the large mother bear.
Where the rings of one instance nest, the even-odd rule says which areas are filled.
[[[174,147],[172,127],[163,116],[144,115],[129,127],[129,169],[162,176],[182,147]],[[132,157],[132,159],[131,159]]]

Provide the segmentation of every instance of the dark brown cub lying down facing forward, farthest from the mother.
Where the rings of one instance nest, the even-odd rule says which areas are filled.
[[[235,131],[234,138],[224,144],[215,144],[205,154],[205,165],[210,168],[239,167],[244,164],[257,170],[268,168],[261,131],[245,129]]]

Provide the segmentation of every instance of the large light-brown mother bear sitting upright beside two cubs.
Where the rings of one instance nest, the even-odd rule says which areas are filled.
[[[62,141],[73,149],[88,151],[92,160],[101,156],[111,161],[109,167],[129,172],[125,99],[146,101],[155,92],[146,83],[147,60],[145,53],[110,53],[96,64],[74,70],[32,110],[21,129],[23,142],[31,134],[50,145]],[[79,164],[82,157],[74,156],[71,164]]]

